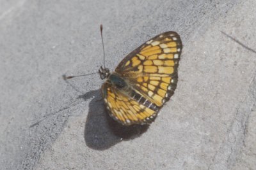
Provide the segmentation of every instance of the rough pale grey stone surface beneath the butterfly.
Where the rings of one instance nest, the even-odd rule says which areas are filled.
[[[256,1],[0,3],[0,169],[256,169]],[[111,70],[156,34],[182,38],[150,127],[109,120],[98,75],[61,78],[102,65],[100,24]]]

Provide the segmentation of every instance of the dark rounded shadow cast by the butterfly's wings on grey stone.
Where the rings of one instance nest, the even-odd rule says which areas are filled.
[[[149,125],[123,126],[109,117],[101,99],[100,90],[92,90],[79,98],[92,98],[84,128],[84,140],[88,147],[106,150],[116,143],[138,138],[147,131]]]

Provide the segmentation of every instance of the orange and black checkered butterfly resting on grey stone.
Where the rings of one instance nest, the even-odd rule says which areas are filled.
[[[113,73],[100,67],[100,78],[106,79],[101,92],[110,117],[122,125],[154,122],[177,87],[181,51],[179,34],[169,31],[129,53]]]

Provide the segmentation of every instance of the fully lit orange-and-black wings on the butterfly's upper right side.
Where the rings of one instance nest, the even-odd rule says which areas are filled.
[[[164,32],[129,53],[115,71],[145,98],[161,107],[177,87],[181,51],[179,34]]]

